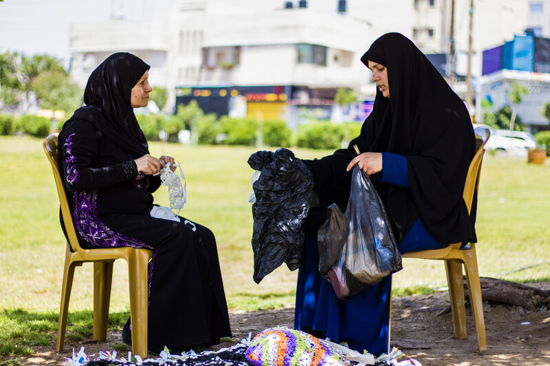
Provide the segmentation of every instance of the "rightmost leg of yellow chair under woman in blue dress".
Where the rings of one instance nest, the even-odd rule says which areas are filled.
[[[481,284],[477,268],[476,249],[472,247],[465,251],[466,281],[470,290],[470,304],[476,322],[477,341],[479,352],[487,350],[487,339],[485,338],[485,317],[483,315],[483,299],[481,298]]]

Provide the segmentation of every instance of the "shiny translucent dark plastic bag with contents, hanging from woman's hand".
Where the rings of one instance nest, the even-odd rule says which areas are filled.
[[[353,168],[346,214],[330,205],[318,231],[319,273],[346,299],[401,270],[388,215],[369,177]]]

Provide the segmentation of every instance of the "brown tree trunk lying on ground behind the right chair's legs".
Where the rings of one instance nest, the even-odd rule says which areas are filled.
[[[540,290],[517,282],[490,277],[479,277],[479,280],[483,301],[521,306],[527,310],[535,310],[541,306],[550,305],[550,290]],[[465,279],[464,286],[465,296],[468,296]]]

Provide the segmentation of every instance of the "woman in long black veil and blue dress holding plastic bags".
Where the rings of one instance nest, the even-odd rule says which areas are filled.
[[[360,136],[347,149],[305,161],[320,207],[311,207],[305,225],[295,327],[381,354],[388,352],[391,277],[338,300],[316,270],[316,235],[326,207],[345,209],[351,168],[358,164],[386,207],[401,253],[475,242],[476,205],[470,216],[462,198],[475,140],[464,103],[408,38],[385,34],[361,60],[373,71],[377,91]]]

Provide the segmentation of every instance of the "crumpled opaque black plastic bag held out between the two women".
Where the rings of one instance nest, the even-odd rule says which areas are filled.
[[[254,152],[248,164],[260,170],[252,184],[254,282],[286,263],[290,271],[302,262],[303,223],[313,192],[313,178],[303,161],[287,149]]]

